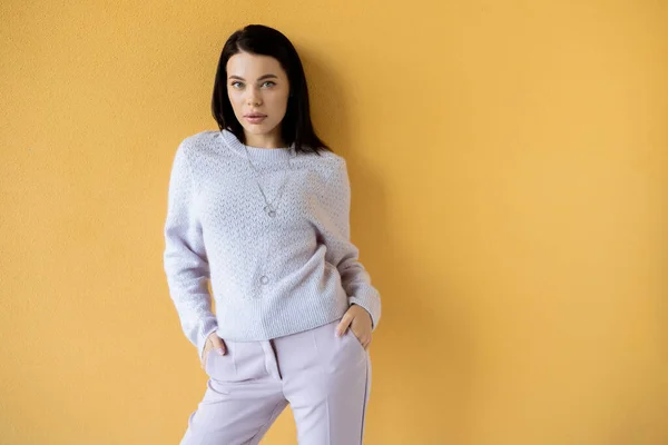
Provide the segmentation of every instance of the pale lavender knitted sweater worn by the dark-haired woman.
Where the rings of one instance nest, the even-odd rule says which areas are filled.
[[[334,322],[351,304],[370,313],[375,329],[380,295],[351,243],[350,206],[340,155],[245,147],[228,130],[186,137],[169,178],[163,258],[199,356],[213,332],[235,342],[276,338]]]

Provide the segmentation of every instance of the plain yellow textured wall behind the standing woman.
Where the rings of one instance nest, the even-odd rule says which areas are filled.
[[[301,52],[383,296],[366,443],[668,443],[664,1],[4,1],[0,444],[176,444],[163,271],[230,32]],[[288,409],[266,444],[294,444]]]

